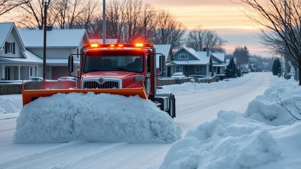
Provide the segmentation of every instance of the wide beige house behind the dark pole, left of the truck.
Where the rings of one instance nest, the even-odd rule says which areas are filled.
[[[20,37],[27,51],[38,58],[43,58],[43,30],[19,30]],[[46,41],[46,79],[57,80],[69,76],[68,56],[80,53],[83,44],[89,43],[85,29],[49,29]],[[74,70],[79,69],[79,56],[75,56]],[[43,62],[43,61],[41,61]],[[42,66],[38,67],[37,76],[42,77]],[[75,71],[73,75],[76,75]]]

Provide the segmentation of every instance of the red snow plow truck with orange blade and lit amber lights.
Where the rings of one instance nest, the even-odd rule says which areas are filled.
[[[124,96],[139,95],[157,104],[172,118],[175,117],[175,96],[157,92],[157,77],[166,69],[165,56],[156,53],[154,44],[85,44],[79,54],[71,54],[68,71],[73,70],[73,56],[80,56],[78,88],[23,90],[23,105],[39,97],[56,93],[94,92]],[[159,56],[157,73],[156,56]]]

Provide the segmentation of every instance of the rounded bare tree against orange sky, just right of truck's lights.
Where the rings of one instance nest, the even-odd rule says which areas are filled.
[[[185,42],[186,27],[168,11],[161,10],[157,14],[154,42],[156,44],[171,44],[172,49],[180,48]]]

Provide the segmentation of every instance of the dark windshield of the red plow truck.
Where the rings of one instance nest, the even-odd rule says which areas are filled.
[[[87,55],[84,72],[94,71],[129,71],[141,73],[143,72],[143,57],[142,55]]]

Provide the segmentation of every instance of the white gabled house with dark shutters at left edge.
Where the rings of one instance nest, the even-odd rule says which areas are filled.
[[[0,23],[0,79],[36,77],[42,63],[41,58],[26,50],[14,23]]]

